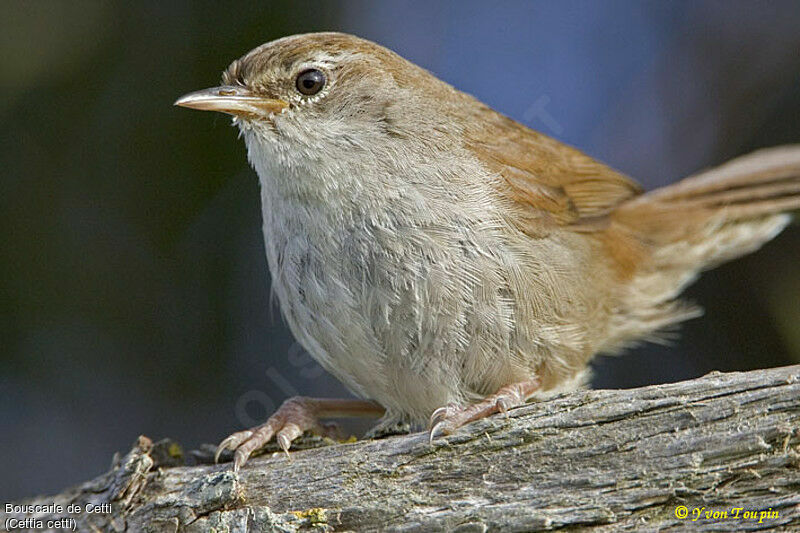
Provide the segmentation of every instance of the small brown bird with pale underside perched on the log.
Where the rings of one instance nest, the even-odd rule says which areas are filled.
[[[596,355],[698,316],[683,289],[800,208],[800,145],[645,192],[343,33],[268,42],[175,104],[233,117],[282,315],[357,397],[288,399],[221,442],[237,471],[328,417],[427,421],[433,441],[582,387]]]

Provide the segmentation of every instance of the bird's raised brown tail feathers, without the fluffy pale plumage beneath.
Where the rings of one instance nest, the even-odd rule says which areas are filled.
[[[793,209],[800,209],[800,145],[734,159],[634,198],[613,216],[652,244],[657,260],[702,270],[758,249]]]

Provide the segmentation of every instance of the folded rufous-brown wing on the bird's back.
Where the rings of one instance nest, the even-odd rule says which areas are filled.
[[[484,105],[473,109],[467,148],[505,178],[514,200],[559,224],[600,217],[642,192],[632,179],[575,148]]]

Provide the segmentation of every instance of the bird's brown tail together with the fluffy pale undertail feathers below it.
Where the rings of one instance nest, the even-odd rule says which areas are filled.
[[[800,209],[800,145],[754,152],[617,207],[612,221],[640,243],[617,342],[697,316],[676,298],[699,272],[757,250]],[[613,343],[612,343],[613,345]]]

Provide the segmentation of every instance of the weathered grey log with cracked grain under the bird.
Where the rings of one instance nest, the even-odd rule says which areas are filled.
[[[37,515],[79,531],[800,530],[800,366],[575,392],[509,416],[433,445],[417,433],[268,454],[238,474],[159,466],[179,449],[140,437],[107,474],[20,503],[110,503]]]

